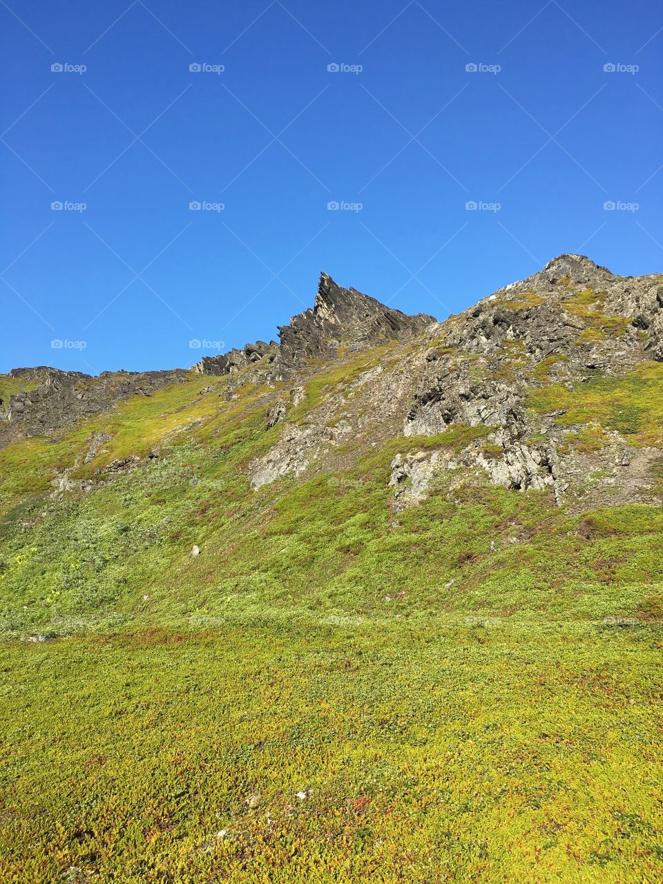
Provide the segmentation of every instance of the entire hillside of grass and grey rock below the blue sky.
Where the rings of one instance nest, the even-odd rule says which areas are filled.
[[[661,880],[662,394],[581,255],[0,376],[0,879]]]

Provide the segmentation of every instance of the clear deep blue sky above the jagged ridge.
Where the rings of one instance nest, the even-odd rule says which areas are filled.
[[[0,19],[0,370],[188,366],[276,337],[323,270],[438,318],[562,252],[663,270],[650,0],[8,0]]]

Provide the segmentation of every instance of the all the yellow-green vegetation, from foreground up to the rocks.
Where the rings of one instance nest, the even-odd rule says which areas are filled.
[[[295,417],[384,355],[316,377]],[[651,444],[641,371],[531,405]],[[4,636],[71,636],[3,647],[0,879],[660,880],[663,512],[447,476],[390,527],[393,454],[463,428],[251,492],[282,426],[263,391],[201,386],[0,452]],[[92,431],[107,463],[202,419],[42,496]]]

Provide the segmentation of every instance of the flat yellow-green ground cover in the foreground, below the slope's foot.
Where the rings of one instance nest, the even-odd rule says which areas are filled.
[[[658,642],[282,622],[5,646],[0,879],[656,884]]]

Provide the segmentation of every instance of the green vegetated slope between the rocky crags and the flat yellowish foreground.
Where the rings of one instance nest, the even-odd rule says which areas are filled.
[[[393,523],[393,455],[424,443],[453,450],[486,430],[393,439],[346,472],[252,492],[246,462],[278,433],[264,431],[258,412],[209,446],[171,447],[94,493],[19,504],[0,522],[0,632],[181,628],[240,614],[308,623],[321,614],[634,613],[663,582],[659,508],[570,516],[543,492],[459,485],[451,471]]]

